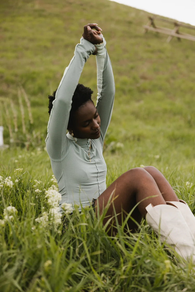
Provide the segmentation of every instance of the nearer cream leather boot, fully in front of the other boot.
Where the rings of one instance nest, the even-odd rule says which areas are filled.
[[[180,210],[168,202],[166,205],[157,206],[149,204],[146,211],[146,221],[161,241],[173,246],[184,260],[191,258],[195,264],[194,237]]]

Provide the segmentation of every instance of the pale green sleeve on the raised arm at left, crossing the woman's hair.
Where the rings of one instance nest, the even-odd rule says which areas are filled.
[[[72,97],[78,84],[85,62],[95,51],[95,46],[81,38],[80,44],[75,47],[75,52],[70,64],[65,69],[61,82],[56,91],[48,127],[46,147],[51,159],[61,159],[65,147],[66,130],[68,126]]]

